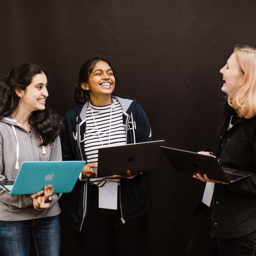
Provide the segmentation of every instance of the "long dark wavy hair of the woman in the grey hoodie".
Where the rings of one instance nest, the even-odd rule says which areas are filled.
[[[32,78],[41,73],[47,76],[47,72],[39,65],[24,63],[13,67],[7,77],[0,81],[0,119],[10,116],[18,107],[19,98],[15,89],[26,90]],[[63,130],[60,115],[48,108],[34,111],[29,118],[29,123],[42,137],[41,146],[53,143]]]

